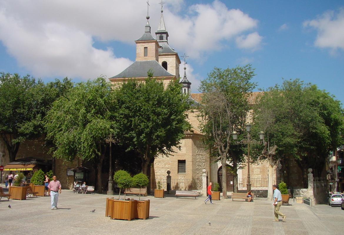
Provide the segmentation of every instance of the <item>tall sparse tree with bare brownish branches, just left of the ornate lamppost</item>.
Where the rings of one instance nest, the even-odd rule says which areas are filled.
[[[211,154],[221,159],[223,176],[227,174],[227,160],[232,163],[236,191],[237,169],[243,160],[243,146],[231,145],[231,134],[233,131],[244,133],[243,127],[245,128],[249,111],[247,94],[256,87],[256,84],[250,81],[254,75],[251,65],[214,68],[199,88],[203,93],[200,127],[206,135],[205,143],[215,146],[211,149]],[[222,192],[223,198],[226,199],[227,177],[222,177]]]

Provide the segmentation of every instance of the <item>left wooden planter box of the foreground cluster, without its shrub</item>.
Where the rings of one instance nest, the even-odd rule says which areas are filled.
[[[112,214],[110,218],[117,220],[132,220],[135,219],[135,200],[113,200]]]

